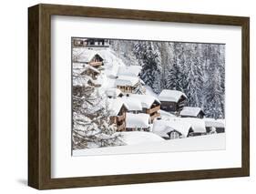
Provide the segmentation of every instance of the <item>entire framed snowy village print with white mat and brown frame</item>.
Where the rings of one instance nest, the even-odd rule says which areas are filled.
[[[250,20],[28,8],[28,185],[250,174]]]

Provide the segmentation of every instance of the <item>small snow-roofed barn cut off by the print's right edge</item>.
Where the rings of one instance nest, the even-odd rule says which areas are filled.
[[[204,118],[207,133],[224,133],[224,119]]]

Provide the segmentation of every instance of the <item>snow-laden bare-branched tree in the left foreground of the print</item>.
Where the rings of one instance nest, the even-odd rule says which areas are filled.
[[[123,145],[110,121],[106,95],[99,94],[92,77],[73,72],[73,149]]]

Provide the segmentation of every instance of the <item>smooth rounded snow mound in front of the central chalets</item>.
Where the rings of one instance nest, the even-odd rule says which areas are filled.
[[[118,132],[117,134],[121,134],[122,140],[127,145],[138,145],[138,144],[145,144],[150,142],[165,141],[163,138],[160,138],[158,135],[154,133],[148,133],[145,131],[126,131],[126,132]]]

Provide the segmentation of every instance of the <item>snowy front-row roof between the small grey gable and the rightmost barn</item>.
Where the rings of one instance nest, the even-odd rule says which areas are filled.
[[[192,129],[196,133],[205,133],[205,123],[204,120],[197,117],[170,117],[169,120],[171,121],[181,121],[187,122],[192,126]]]

